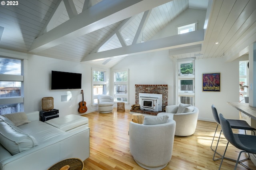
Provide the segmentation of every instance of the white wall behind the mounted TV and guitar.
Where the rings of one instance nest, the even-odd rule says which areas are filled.
[[[81,89],[51,90],[51,71],[82,73],[82,89],[87,112],[98,110],[92,107],[92,65],[64,61],[32,55],[28,59],[27,76],[24,89],[24,111],[40,111],[43,97],[54,98],[54,108],[59,109],[60,116],[78,113],[78,103],[82,101]],[[107,69],[108,72],[109,69]],[[109,77],[109,75],[108,75]],[[67,80],[68,81],[68,80]],[[72,95],[71,101],[61,101],[62,95]],[[81,114],[82,115],[82,114]]]

